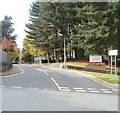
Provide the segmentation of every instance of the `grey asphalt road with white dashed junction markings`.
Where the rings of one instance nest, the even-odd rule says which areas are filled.
[[[118,111],[118,94],[82,75],[19,65],[2,78],[3,111]]]

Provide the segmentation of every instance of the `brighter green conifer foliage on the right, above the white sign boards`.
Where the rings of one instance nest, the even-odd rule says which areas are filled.
[[[77,8],[81,22],[75,25],[75,37],[86,55],[107,55],[111,47],[116,48],[118,17],[115,4],[85,3],[83,8]]]

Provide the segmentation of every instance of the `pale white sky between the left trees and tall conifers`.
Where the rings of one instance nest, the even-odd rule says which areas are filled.
[[[23,48],[23,38],[25,37],[25,23],[28,23],[30,4],[35,0],[1,0],[0,1],[0,20],[5,15],[12,16],[15,31],[18,35],[17,44]]]

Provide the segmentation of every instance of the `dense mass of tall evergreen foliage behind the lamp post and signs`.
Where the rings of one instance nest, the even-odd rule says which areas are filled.
[[[119,3],[108,2],[33,2],[25,30],[28,43],[35,52],[35,48],[44,51],[48,59],[63,58],[64,39],[67,53],[82,50],[83,56],[107,55],[110,49],[120,50],[119,9]]]

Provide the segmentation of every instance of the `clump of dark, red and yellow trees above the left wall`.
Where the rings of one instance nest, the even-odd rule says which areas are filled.
[[[5,16],[4,20],[0,23],[0,26],[2,29],[0,29],[1,34],[1,44],[0,44],[0,50],[6,51],[9,55],[11,60],[15,61],[16,58],[19,57],[19,51],[16,46],[16,36],[14,35],[14,28],[12,17]]]

